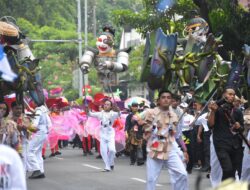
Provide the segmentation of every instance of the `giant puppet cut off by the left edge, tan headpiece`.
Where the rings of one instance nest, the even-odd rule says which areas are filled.
[[[19,103],[28,91],[37,105],[44,103],[44,94],[35,59],[25,35],[12,17],[0,19],[0,99],[12,92]]]

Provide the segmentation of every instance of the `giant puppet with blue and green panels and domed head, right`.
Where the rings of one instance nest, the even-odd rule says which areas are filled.
[[[250,84],[249,46],[243,47],[243,61],[235,56],[225,61],[218,53],[222,36],[216,38],[208,31],[208,23],[194,17],[183,31],[185,38],[178,38],[177,33],[165,34],[162,28],[148,33],[141,81],[147,82],[152,90],[178,93],[193,89],[196,98],[202,100],[215,94],[220,96],[225,86],[239,89],[249,97],[246,87]],[[247,80],[243,77],[244,66],[248,68],[247,71],[245,67]]]

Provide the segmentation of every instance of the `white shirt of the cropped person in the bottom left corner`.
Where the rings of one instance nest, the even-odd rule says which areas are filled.
[[[17,152],[0,145],[0,190],[26,190],[24,166]]]

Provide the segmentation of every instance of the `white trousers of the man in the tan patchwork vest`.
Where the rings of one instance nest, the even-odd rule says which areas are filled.
[[[169,152],[168,160],[147,157],[147,190],[155,190],[163,166],[168,168],[173,190],[188,190],[187,172],[175,147]]]

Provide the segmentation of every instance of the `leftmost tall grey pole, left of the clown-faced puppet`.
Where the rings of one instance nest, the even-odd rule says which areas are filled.
[[[81,0],[77,0],[77,33],[78,33],[78,56],[80,61],[82,57],[82,23],[81,23]],[[79,97],[82,97],[82,88],[83,88],[83,74],[81,69],[78,69],[79,74]]]

